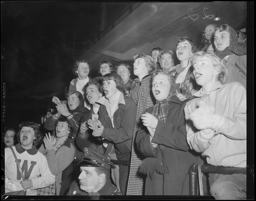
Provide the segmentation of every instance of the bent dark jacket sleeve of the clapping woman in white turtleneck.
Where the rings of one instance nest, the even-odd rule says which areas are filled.
[[[137,105],[133,100],[130,100],[127,102],[123,109],[122,116],[118,117],[121,118],[116,119],[115,121],[121,121],[121,126],[119,128],[109,128],[108,126],[104,126],[103,132],[101,134],[101,137],[107,140],[112,141],[113,143],[121,143],[126,140],[132,139],[133,136],[133,130],[135,125],[135,118],[136,118],[136,110]],[[99,120],[101,121],[103,115],[100,113],[101,110],[99,110]],[[101,121],[105,122],[105,121]]]

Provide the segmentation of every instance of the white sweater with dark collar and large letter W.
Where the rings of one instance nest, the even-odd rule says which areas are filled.
[[[33,187],[27,189],[27,195],[36,195],[37,188],[47,187],[55,182],[55,175],[49,170],[46,157],[33,145],[32,149],[24,149],[20,143],[12,147],[20,164],[25,180],[31,179]],[[20,175],[13,152],[6,148],[5,176],[9,176],[18,190],[24,190],[20,184]]]

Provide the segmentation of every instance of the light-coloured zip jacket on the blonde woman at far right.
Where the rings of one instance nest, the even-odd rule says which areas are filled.
[[[185,117],[195,111],[200,100],[215,108],[215,114],[225,118],[219,134],[210,139],[199,136],[200,130],[187,121],[187,142],[191,149],[201,152],[208,164],[224,167],[246,167],[246,90],[239,82],[221,85],[215,82],[210,94],[200,89],[186,103]]]

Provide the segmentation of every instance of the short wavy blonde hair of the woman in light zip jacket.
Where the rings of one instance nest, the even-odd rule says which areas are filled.
[[[228,69],[224,62],[215,54],[207,52],[196,52],[193,54],[192,64],[194,65],[198,57],[207,57],[212,61],[214,68],[216,68],[220,73],[217,75],[217,80],[223,85],[226,82],[228,76]]]

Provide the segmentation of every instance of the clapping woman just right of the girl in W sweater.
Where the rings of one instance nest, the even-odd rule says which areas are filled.
[[[61,189],[63,192],[61,195],[67,195],[69,186],[72,183],[72,179],[70,181],[62,181],[62,171],[73,162],[75,153],[70,140],[73,135],[73,129],[67,117],[61,116],[57,119],[53,133],[54,136],[50,136],[50,133],[46,134],[44,144],[38,151],[46,155],[49,169],[53,175],[56,175],[56,183],[51,185],[49,189],[42,190],[40,193],[37,192],[38,195],[45,195],[45,193],[47,195],[47,190],[55,193],[55,195],[60,195]]]

